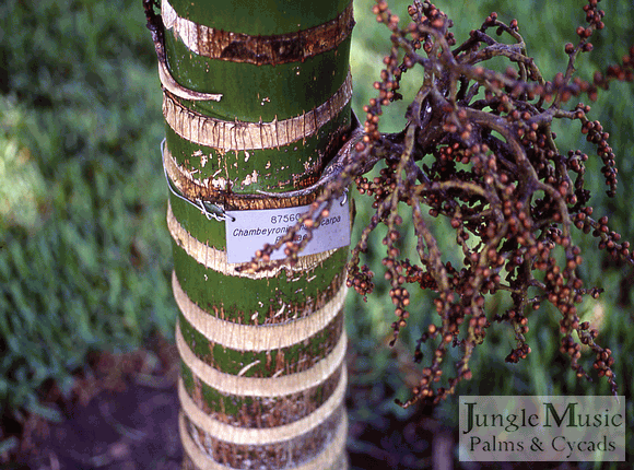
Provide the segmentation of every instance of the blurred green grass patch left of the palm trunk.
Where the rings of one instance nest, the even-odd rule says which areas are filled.
[[[155,54],[138,2],[0,5],[0,413],[169,336]]]

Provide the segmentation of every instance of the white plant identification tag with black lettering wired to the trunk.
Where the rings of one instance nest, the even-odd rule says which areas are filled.
[[[265,244],[273,245],[294,226],[309,205],[256,211],[226,211],[227,262],[250,261]],[[316,255],[350,245],[350,210],[348,198],[332,201],[329,214],[313,230],[313,238],[300,252],[301,256]],[[295,234],[300,243],[307,235],[302,225]],[[271,259],[284,259],[284,247],[271,254]]]

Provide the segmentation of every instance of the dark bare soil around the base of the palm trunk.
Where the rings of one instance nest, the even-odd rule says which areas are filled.
[[[43,392],[42,401],[60,410],[64,416],[62,422],[48,423],[30,416],[17,426],[3,420],[3,434],[20,428],[21,440],[17,453],[0,455],[0,468],[179,469],[183,449],[175,387],[178,364],[174,344],[164,339],[155,339],[146,350],[91,357],[86,372],[78,378],[71,400],[61,398],[55,385]],[[349,368],[354,369],[352,355]],[[349,409],[357,409],[355,399],[367,397],[366,392],[351,387],[347,398]],[[513,466],[458,462],[455,431],[428,418],[425,411],[430,410],[420,410],[407,422],[378,412],[367,420],[351,420],[348,439],[351,470],[576,468],[548,462]]]

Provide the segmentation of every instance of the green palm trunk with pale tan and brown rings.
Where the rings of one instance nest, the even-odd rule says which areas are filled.
[[[240,270],[226,226],[316,199],[284,192],[318,181],[350,131],[352,3],[164,0],[161,12],[185,468],[345,468],[348,249]]]

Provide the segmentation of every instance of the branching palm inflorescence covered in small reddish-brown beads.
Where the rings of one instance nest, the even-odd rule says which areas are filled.
[[[582,95],[595,101],[598,90],[608,89],[612,80],[632,81],[634,47],[622,63],[609,67],[604,74],[597,72],[591,82],[574,77],[577,56],[592,50],[589,38],[604,26],[598,0],[588,0],[584,11],[587,25],[576,30],[577,44],[564,47],[570,58],[566,70],[547,81],[528,56],[516,20],[505,24],[491,13],[456,46],[449,31],[453,22],[426,0],[414,0],[408,10],[411,22],[402,28],[385,0],[374,5],[376,20],[391,33],[385,69],[374,84],[377,96],[364,108],[363,138],[306,220],[313,218],[316,225],[324,211],[327,214],[320,204],[331,201],[352,181],[361,193],[373,197],[375,213],[352,250],[348,285],[364,296],[372,293],[374,273],[362,265],[361,256],[368,249],[372,233],[385,225],[384,277],[390,283],[397,315],[392,343],[413,308],[410,291],[436,293],[437,320],[420,338],[414,360],[422,361],[423,343],[435,344],[435,350],[413,397],[401,403],[403,407],[420,399],[437,402],[453,393],[461,379],[470,378],[469,360],[493,322],[507,322],[514,329],[516,348],[506,361],[525,359],[530,353],[525,338],[530,313],[544,302],[561,313],[561,351],[571,356],[577,376],[589,378],[579,364],[580,344],[573,338],[574,331],[580,343],[595,352],[598,375],[607,377],[617,392],[611,351],[595,342],[597,330],[578,317],[583,297],[596,297],[599,290],[585,287],[577,275],[583,259],[572,231],[591,232],[600,239],[599,247],[614,257],[632,263],[634,257],[629,243],[609,228],[608,218],[592,218],[585,188],[585,163],[591,156],[578,150],[562,153],[552,122],[580,122],[582,133],[602,160],[608,195],[614,196],[617,168],[608,132],[587,117],[589,106],[564,106]],[[490,32],[507,35],[512,44],[498,42]],[[509,63],[504,73],[484,66],[498,57]],[[398,91],[403,74],[415,67],[424,69],[424,79],[408,108],[408,125],[400,133],[381,134],[378,124],[383,109],[402,97]],[[379,175],[372,180],[363,176],[378,161],[386,164]],[[402,203],[412,214],[415,261],[403,258],[398,248],[398,240],[406,235],[399,214]],[[322,213],[316,213],[318,210]],[[443,259],[425,212],[449,220],[463,255],[461,267]],[[302,247],[291,243],[293,236],[291,231],[278,246],[267,247],[260,255],[266,257],[287,243],[287,260],[293,262]],[[508,292],[513,305],[503,314],[488,315],[485,298],[498,291]],[[438,387],[449,345],[460,348],[462,359],[456,375],[445,380],[447,386]]]

